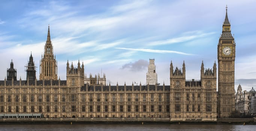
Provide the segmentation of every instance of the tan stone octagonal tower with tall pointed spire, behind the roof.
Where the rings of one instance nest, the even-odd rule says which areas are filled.
[[[53,54],[53,45],[50,36],[50,26],[48,26],[47,40],[44,46],[44,57],[40,61],[39,80],[57,80],[57,61]]]

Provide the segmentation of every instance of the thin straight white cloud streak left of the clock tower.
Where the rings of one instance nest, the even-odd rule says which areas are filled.
[[[181,54],[181,55],[194,55],[194,54],[188,54],[184,52],[179,51],[167,51],[167,50],[157,50],[157,49],[132,49],[132,48],[115,48],[115,49],[125,49],[125,50],[131,50],[131,51],[142,51],[142,52],[151,52],[151,53],[175,53],[175,54]]]

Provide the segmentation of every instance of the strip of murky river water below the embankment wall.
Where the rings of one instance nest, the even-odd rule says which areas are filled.
[[[54,124],[54,125],[0,125],[0,131],[255,131],[256,125],[215,124]]]

